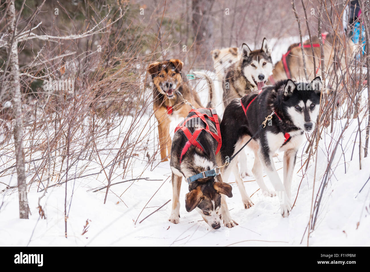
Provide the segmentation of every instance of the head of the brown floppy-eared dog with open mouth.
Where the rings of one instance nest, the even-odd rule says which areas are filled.
[[[152,81],[159,93],[167,98],[174,98],[175,90],[181,85],[181,69],[184,63],[181,60],[171,59],[163,62],[156,61],[148,67]]]

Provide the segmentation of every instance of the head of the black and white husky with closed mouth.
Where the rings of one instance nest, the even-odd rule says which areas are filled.
[[[309,83],[288,80],[283,89],[283,104],[293,124],[303,131],[315,128],[320,108],[322,82],[320,77]]]

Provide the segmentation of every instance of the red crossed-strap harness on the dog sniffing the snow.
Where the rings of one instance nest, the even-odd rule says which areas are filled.
[[[221,140],[221,131],[220,131],[220,124],[218,122],[218,117],[217,117],[217,113],[216,113],[216,110],[213,109],[213,108],[202,108],[204,110],[209,110],[212,114],[212,116],[209,116],[208,114],[206,113],[200,113],[198,110],[191,110],[189,111],[189,113],[195,113],[193,116],[185,119],[185,121],[183,123],[180,123],[176,129],[175,129],[175,133],[176,131],[178,130],[182,130],[186,136],[186,138],[188,138],[188,141],[186,142],[184,148],[182,148],[182,152],[181,152],[181,157],[180,157],[180,163],[181,163],[181,160],[182,160],[182,156],[185,155],[186,151],[188,151],[189,147],[191,145],[194,145],[195,147],[198,147],[200,150],[202,150],[203,152],[204,151],[204,148],[202,147],[202,145],[198,142],[198,136],[199,134],[202,132],[202,130],[205,130],[207,131],[209,134],[212,135],[213,138],[215,138],[215,140],[218,142],[218,145],[217,145],[217,148],[216,148],[216,152],[215,154],[218,153],[218,151],[220,151],[221,149],[221,145],[222,145],[222,140]],[[210,121],[214,122],[215,125],[216,125],[216,130],[217,130],[217,134],[213,133],[212,131],[209,130],[209,125],[208,123],[206,122],[206,118],[207,117]],[[197,128],[194,133],[192,134],[190,131],[189,131],[189,128],[186,127],[186,122],[190,121],[191,119],[193,118],[200,118],[205,124],[206,124],[206,128]]]

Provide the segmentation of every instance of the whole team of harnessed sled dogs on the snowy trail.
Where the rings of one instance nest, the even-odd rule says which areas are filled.
[[[332,67],[332,34],[323,34],[323,40],[325,67]],[[306,44],[309,43],[306,41]],[[313,47],[318,58],[320,48],[315,44]],[[304,46],[304,49],[311,50],[311,47]],[[232,187],[223,181],[227,182],[233,173],[244,208],[253,206],[237,164],[237,159],[240,165],[246,164],[245,153],[240,152],[233,159],[247,141],[247,147],[255,155],[252,173],[259,188],[263,195],[277,195],[280,213],[283,217],[289,215],[292,209],[290,185],[297,150],[305,139],[305,132],[312,132],[315,128],[322,83],[320,77],[312,78],[314,67],[310,66],[313,63],[310,51],[305,58],[311,81],[303,83],[290,79],[303,74],[300,44],[291,45],[275,66],[271,51],[266,38],[257,50],[250,50],[243,43],[240,50],[231,47],[211,51],[214,68],[223,87],[225,111],[222,120],[215,110],[221,101],[215,101],[214,83],[208,75],[195,72],[205,77],[208,84],[208,105],[203,108],[195,90],[181,75],[182,61],[170,59],[149,65],[161,159],[167,161],[170,157],[173,197],[169,221],[172,223],[179,223],[179,194],[184,177],[189,184],[186,211],[196,209],[213,229],[220,228],[221,224],[228,228],[238,225],[226,203],[226,196],[232,197]],[[333,71],[329,70],[329,73]],[[321,71],[317,70],[316,74],[321,74]],[[169,116],[172,114],[185,120],[176,127],[171,142]],[[272,159],[278,150],[284,151],[283,182]],[[263,169],[275,191],[265,185]]]

